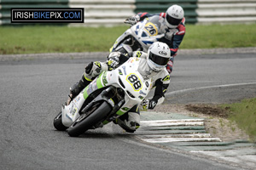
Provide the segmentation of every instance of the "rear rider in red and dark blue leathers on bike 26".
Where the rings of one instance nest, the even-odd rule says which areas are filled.
[[[125,20],[125,24],[130,24],[131,26],[137,24],[138,21],[144,20],[145,18],[150,18],[155,15],[159,15],[160,18],[160,33],[165,34],[165,37],[159,39],[159,42],[165,42],[170,50],[172,58],[168,62],[166,69],[171,74],[174,56],[177,55],[177,49],[183,37],[185,35],[185,18],[183,8],[179,5],[172,5],[166,10],[166,13],[159,14],[148,14],[148,13],[138,13],[135,16]]]

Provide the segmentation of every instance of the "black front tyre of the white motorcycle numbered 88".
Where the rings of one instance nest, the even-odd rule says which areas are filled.
[[[73,122],[67,129],[67,133],[71,137],[79,136],[90,127],[96,125],[96,123],[103,121],[110,111],[112,111],[112,108],[106,101],[103,101],[102,104],[96,103],[92,105],[86,113],[79,116],[79,118]]]

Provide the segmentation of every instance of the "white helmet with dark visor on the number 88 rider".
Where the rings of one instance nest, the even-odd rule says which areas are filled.
[[[166,67],[170,58],[170,48],[164,42],[154,42],[148,48],[147,63],[150,69],[155,72],[162,71]]]

